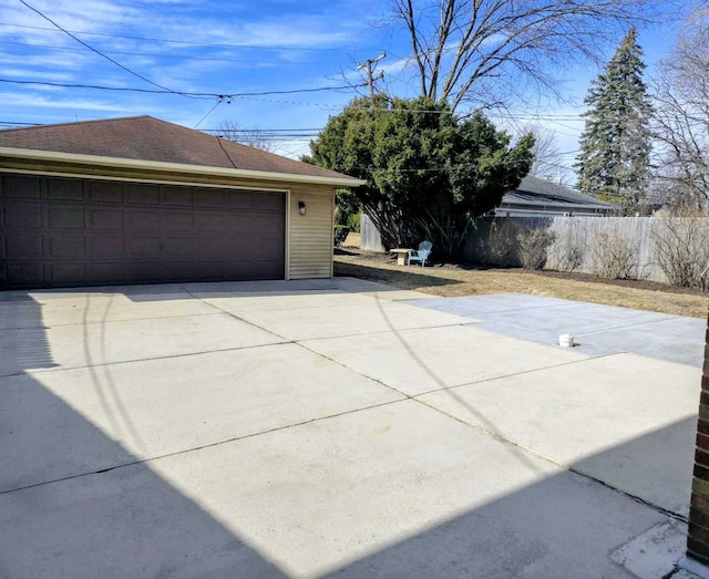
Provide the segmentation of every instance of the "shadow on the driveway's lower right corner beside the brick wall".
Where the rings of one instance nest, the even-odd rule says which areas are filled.
[[[677,422],[580,461],[572,466],[573,472],[546,477],[432,525],[333,569],[327,577],[665,577],[684,556],[686,515],[668,517],[654,506],[639,504],[638,497],[614,490],[579,473],[610,471],[630,459],[643,465],[641,475],[651,476],[654,469],[662,468],[656,459],[657,445],[678,436],[687,441],[682,452],[688,454],[691,468],[695,433],[695,418]],[[639,475],[624,473],[630,478]],[[689,508],[690,477],[688,473],[686,488],[674,489],[678,499],[687,503],[686,509],[681,509],[684,513]],[[668,540],[662,545],[644,542],[644,536],[657,527],[670,529]],[[616,551],[627,548],[633,539],[641,546],[635,557],[618,557]],[[628,560],[619,560],[623,558]]]

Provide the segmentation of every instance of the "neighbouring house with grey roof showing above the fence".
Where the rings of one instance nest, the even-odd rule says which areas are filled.
[[[617,215],[620,208],[538,177],[527,176],[505,194],[497,217],[553,217],[555,215]]]

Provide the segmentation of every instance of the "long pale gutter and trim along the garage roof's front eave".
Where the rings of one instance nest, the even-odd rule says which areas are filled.
[[[192,173],[213,177],[246,178],[258,180],[284,180],[290,183],[310,183],[340,187],[358,187],[367,182],[354,177],[322,177],[317,175],[298,175],[294,173],[276,173],[270,170],[238,169],[226,167],[207,167],[183,163],[165,163],[158,161],[140,161],[97,155],[79,155],[55,151],[34,151],[30,148],[0,147],[0,157],[24,158],[29,161],[51,161],[61,163],[81,163],[85,165],[103,165],[120,169],[162,170],[165,173]]]

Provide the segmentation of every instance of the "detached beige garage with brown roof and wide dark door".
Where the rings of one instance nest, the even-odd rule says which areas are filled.
[[[0,288],[328,278],[361,184],[150,116],[0,131]]]

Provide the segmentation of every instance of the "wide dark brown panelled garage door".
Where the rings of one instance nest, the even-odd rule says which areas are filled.
[[[4,288],[282,279],[285,194],[2,175]]]

